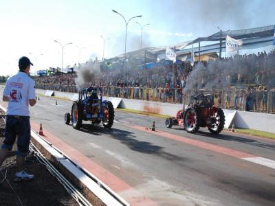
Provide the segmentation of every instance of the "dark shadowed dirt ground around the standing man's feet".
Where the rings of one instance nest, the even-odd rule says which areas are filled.
[[[0,117],[1,118],[1,117]],[[0,119],[0,146],[4,140],[5,122]],[[1,170],[7,174],[10,185],[0,172],[0,205],[78,205],[63,185],[47,170],[45,165],[37,161],[36,157],[28,156],[25,170],[34,174],[31,181],[14,182],[16,172],[16,143],[5,159]],[[18,197],[17,197],[18,196]],[[20,203],[20,201],[21,203]]]

